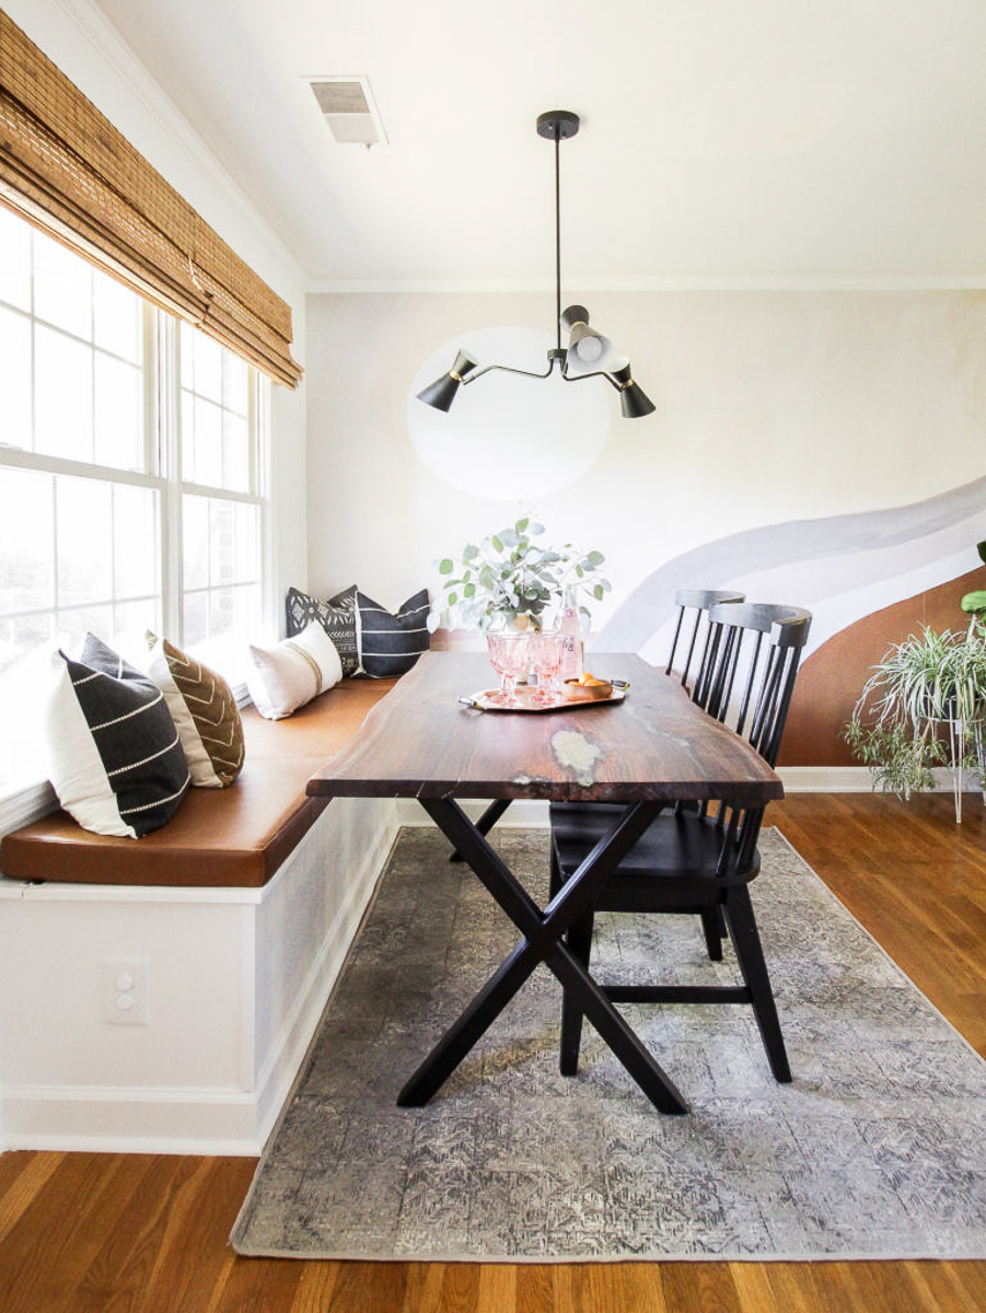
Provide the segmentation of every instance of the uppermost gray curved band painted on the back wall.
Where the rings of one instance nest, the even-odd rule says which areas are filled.
[[[717,588],[731,579],[800,561],[893,548],[986,512],[986,477],[926,502],[819,520],[743,529],[672,557],[639,583],[600,629],[597,651],[638,651],[668,618],[677,588]]]

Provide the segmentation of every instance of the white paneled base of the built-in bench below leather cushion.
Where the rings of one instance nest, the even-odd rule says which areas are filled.
[[[264,889],[0,881],[0,1149],[255,1154],[397,831],[339,800]],[[147,1023],[108,1024],[108,961]]]

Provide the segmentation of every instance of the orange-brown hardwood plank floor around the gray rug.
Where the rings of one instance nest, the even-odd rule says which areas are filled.
[[[986,1056],[986,815],[794,794],[768,819]],[[316,1263],[227,1246],[253,1161],[0,1157],[1,1313],[982,1313],[986,1263]]]

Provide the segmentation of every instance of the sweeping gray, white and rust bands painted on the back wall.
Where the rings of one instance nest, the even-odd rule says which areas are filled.
[[[922,625],[962,629],[964,593],[986,584],[986,478],[906,507],[765,525],[667,561],[593,642],[659,663],[670,649],[675,591],[737,588],[751,601],[811,611],[782,765],[851,765],[842,726],[890,643]],[[656,625],[655,625],[656,618]]]

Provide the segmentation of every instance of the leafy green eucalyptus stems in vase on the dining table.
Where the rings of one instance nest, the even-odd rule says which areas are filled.
[[[439,561],[442,591],[428,616],[428,629],[433,633],[444,625],[484,633],[496,624],[540,629],[547,608],[561,603],[570,587],[578,587],[583,599],[601,601],[611,588],[597,574],[603,553],[583,551],[570,542],[541,546],[533,540],[544,532],[544,525],[525,517],[478,544],[467,542],[457,557]],[[579,612],[586,625],[589,611],[584,600]]]

